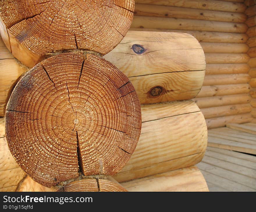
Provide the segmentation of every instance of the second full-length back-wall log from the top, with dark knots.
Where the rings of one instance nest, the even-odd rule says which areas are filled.
[[[247,19],[247,16],[244,13],[222,12],[150,4],[136,4],[134,14],[138,16],[197,19],[235,23],[243,23]]]

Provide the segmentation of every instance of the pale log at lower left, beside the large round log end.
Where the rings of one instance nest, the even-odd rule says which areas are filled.
[[[10,153],[5,138],[4,118],[0,118],[0,191],[15,191],[24,175]]]

